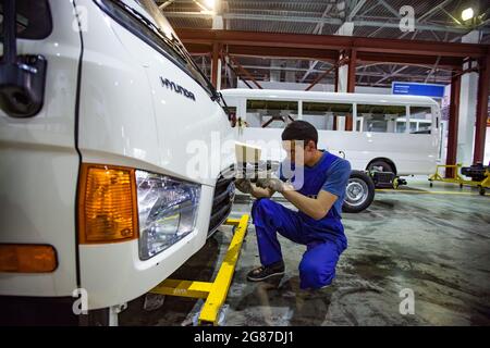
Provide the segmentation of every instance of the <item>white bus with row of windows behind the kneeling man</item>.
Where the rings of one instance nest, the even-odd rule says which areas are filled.
[[[407,176],[436,169],[441,111],[431,98],[271,89],[221,92],[245,124],[235,127],[237,139],[262,146],[264,160],[281,161],[282,129],[304,120],[318,129],[318,147],[345,153],[354,170]],[[350,123],[352,132],[345,130]]]

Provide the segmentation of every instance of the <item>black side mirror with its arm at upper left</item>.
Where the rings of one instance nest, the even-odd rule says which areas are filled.
[[[0,108],[12,117],[30,117],[42,108],[47,61],[17,57],[15,0],[3,0],[3,57],[0,60]]]

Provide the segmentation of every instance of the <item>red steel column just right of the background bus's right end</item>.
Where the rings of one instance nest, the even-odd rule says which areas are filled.
[[[456,164],[457,153],[457,125],[460,122],[460,95],[461,95],[461,75],[453,72],[451,77],[451,102],[449,111],[449,134],[448,134],[448,154],[445,157],[445,164]],[[453,177],[454,170],[446,169],[445,177]]]

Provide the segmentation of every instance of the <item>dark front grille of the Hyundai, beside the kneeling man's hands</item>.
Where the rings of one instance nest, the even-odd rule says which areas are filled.
[[[233,178],[222,175],[218,178],[215,187],[211,217],[209,222],[208,237],[224,222],[231,212],[235,198],[235,185]]]

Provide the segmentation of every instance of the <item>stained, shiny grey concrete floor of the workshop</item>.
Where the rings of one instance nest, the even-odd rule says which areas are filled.
[[[235,203],[232,216],[250,207]],[[490,192],[412,179],[400,190],[378,190],[368,210],[343,216],[348,248],[333,284],[318,291],[298,288],[305,248],[282,237],[285,276],[247,282],[259,264],[250,224],[221,324],[490,325]],[[220,228],[172,277],[212,279],[230,236],[230,227]],[[400,313],[405,288],[414,291],[414,314]],[[160,309],[145,311],[143,302],[131,302],[120,324],[189,325],[201,304],[166,297]]]

